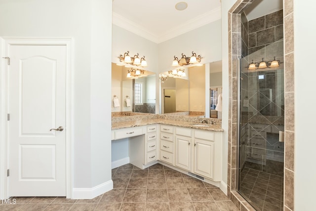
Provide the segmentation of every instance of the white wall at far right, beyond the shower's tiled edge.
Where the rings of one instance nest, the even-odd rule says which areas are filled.
[[[294,209],[315,210],[316,2],[294,0],[295,181]],[[312,64],[312,66],[311,66]]]

